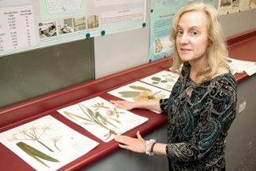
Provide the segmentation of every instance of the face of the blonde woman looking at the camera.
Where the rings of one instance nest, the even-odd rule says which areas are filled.
[[[202,11],[191,11],[180,16],[177,25],[176,47],[180,59],[193,64],[207,64],[209,46],[208,16]]]

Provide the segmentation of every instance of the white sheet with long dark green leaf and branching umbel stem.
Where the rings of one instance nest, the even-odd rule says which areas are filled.
[[[60,169],[98,146],[50,115],[0,133],[0,142],[42,171]]]

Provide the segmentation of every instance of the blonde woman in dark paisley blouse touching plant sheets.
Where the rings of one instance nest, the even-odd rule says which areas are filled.
[[[146,108],[168,114],[168,142],[116,136],[119,146],[147,155],[167,155],[169,170],[225,170],[228,129],[236,118],[236,80],[217,10],[195,2],[180,9],[171,28],[172,71],[180,71],[168,99],[110,100],[126,110]],[[180,69],[181,67],[181,69]]]

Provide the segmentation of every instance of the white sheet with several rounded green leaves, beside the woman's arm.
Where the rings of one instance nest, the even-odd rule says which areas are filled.
[[[160,71],[139,81],[171,91],[179,75],[171,71]]]

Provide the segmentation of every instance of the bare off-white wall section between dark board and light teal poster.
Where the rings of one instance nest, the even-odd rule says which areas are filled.
[[[95,37],[95,78],[148,62],[150,3],[147,3],[146,15],[146,27]]]

